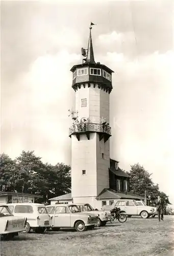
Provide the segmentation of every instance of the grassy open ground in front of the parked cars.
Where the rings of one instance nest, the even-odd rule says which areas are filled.
[[[174,217],[129,218],[91,231],[61,229],[43,234],[19,234],[1,241],[1,256],[172,256],[174,255]]]

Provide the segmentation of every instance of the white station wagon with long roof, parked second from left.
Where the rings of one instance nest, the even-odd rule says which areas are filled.
[[[14,216],[27,217],[24,233],[29,233],[31,229],[36,233],[43,233],[46,227],[51,225],[51,218],[43,204],[12,203],[7,205]]]

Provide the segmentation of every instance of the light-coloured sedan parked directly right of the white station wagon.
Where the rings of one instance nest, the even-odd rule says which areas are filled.
[[[75,228],[77,231],[93,229],[97,224],[98,217],[94,214],[81,212],[77,205],[57,204],[46,206],[51,216],[51,227],[54,231],[60,228]]]

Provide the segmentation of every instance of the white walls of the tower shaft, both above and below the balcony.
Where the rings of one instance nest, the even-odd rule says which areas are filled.
[[[81,99],[87,99],[87,106],[81,106]],[[88,88],[81,86],[76,91],[76,111],[79,118],[89,118],[90,122],[109,122],[109,93],[99,89],[97,84]],[[104,159],[102,159],[102,153]],[[80,135],[78,141],[76,135],[71,136],[71,194],[73,203],[90,203],[93,207],[101,207],[101,202],[95,197],[104,188],[109,188],[110,148],[109,140],[99,140],[97,133],[90,133],[88,140],[86,135]],[[82,170],[86,174],[82,175]]]

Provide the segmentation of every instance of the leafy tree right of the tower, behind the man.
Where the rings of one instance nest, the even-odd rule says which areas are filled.
[[[146,191],[146,195],[151,199],[151,202],[154,202],[160,195],[165,207],[170,204],[168,196],[159,190],[158,184],[155,185],[152,181],[152,174],[148,173],[139,163],[131,165],[131,170],[126,173],[131,177],[130,190],[132,193],[144,197]]]

